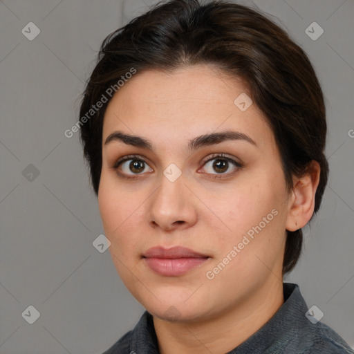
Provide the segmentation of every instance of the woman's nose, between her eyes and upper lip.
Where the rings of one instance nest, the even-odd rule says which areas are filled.
[[[162,174],[160,185],[149,198],[149,223],[165,231],[183,230],[196,223],[198,198],[187,185],[183,174],[169,180]]]

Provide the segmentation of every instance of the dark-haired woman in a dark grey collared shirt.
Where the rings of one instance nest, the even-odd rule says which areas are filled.
[[[328,178],[308,57],[227,1],[106,37],[81,139],[115,268],[146,308],[109,353],[353,353],[283,283]]]

